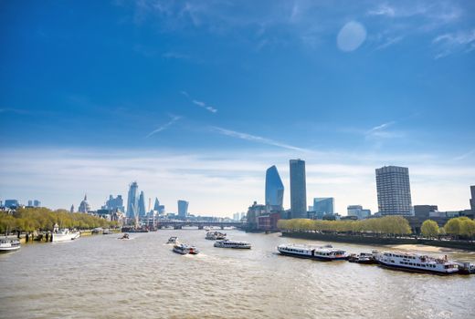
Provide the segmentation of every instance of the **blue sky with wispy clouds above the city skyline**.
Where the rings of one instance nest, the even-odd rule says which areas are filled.
[[[475,184],[471,1],[44,1],[0,5],[0,198],[96,208],[137,180],[168,211],[230,215],[307,161],[308,201],[377,210]]]

